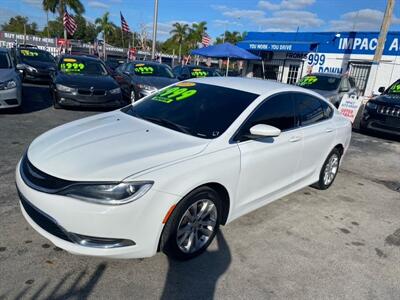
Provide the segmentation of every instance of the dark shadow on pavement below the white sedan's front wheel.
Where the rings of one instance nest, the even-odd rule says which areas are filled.
[[[161,300],[213,299],[218,278],[225,273],[232,260],[221,231],[216,239],[217,251],[207,251],[184,262],[168,260],[168,273]]]

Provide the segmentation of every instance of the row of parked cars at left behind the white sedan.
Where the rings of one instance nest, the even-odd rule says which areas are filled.
[[[22,82],[50,86],[54,108],[122,107],[187,78],[220,76],[213,68],[185,66],[180,76],[165,64],[108,60],[90,55],[62,55],[29,45],[0,51],[0,109],[22,103]],[[186,73],[185,73],[186,74]]]

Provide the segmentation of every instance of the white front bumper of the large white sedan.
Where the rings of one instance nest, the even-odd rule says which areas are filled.
[[[162,221],[168,210],[179,199],[177,196],[148,191],[140,199],[119,206],[100,205],[77,199],[39,192],[22,180],[19,164],[16,185],[21,197],[21,210],[28,223],[42,236],[68,252],[80,255],[111,258],[141,258],[157,252],[163,229]],[[32,208],[52,221],[56,228],[43,225]],[[120,247],[102,247],[97,244],[82,245],[71,238],[80,237],[132,241]],[[107,245],[106,245],[107,246]]]

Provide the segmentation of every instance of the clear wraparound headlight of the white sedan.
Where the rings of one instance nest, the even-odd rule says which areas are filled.
[[[152,181],[74,184],[59,192],[64,196],[106,205],[121,205],[142,197],[152,187]]]

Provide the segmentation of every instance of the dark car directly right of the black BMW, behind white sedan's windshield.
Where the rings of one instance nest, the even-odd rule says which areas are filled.
[[[150,61],[123,64],[116,69],[114,78],[132,102],[178,81],[171,67]]]

